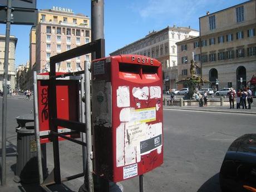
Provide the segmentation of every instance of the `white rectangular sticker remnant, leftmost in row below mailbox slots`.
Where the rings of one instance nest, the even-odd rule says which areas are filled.
[[[116,90],[117,107],[130,107],[129,86],[119,86]]]

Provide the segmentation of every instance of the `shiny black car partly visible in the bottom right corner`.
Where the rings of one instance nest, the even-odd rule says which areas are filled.
[[[229,147],[220,168],[223,192],[256,192],[256,134],[245,134]]]

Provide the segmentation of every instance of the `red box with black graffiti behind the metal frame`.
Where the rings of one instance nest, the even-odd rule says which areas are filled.
[[[63,73],[58,72],[56,75]],[[38,119],[40,129],[40,142],[50,142],[47,136],[50,132],[49,126],[49,111],[48,111],[48,73],[41,73],[40,76],[44,78],[37,80],[38,91]],[[57,104],[57,118],[65,120],[79,121],[79,82],[76,80],[57,80],[56,81],[56,104]],[[58,132],[70,132],[70,129],[58,126]],[[80,137],[80,134],[66,135],[72,138]],[[59,140],[63,138],[58,137]]]

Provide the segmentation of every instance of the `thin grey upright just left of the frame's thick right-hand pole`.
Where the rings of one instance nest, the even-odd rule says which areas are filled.
[[[81,75],[81,95],[80,95],[80,101],[81,101],[81,121],[85,122],[85,103],[82,102],[82,98],[85,95],[85,75]],[[82,132],[82,142],[86,142],[86,134],[85,132]],[[83,173],[86,174],[86,146],[82,145],[82,155],[83,155]]]

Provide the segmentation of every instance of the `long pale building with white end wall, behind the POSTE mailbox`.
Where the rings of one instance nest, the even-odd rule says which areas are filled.
[[[164,90],[168,90],[169,88],[177,88],[178,61],[175,43],[196,36],[199,36],[199,31],[190,27],[168,26],[160,31],[152,31],[144,38],[120,48],[110,55],[136,54],[156,58],[163,65],[163,87]]]

